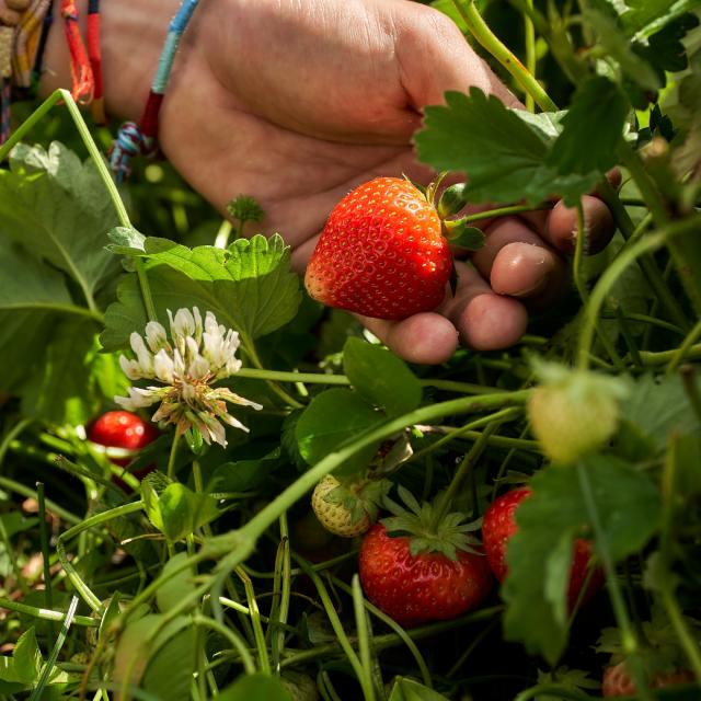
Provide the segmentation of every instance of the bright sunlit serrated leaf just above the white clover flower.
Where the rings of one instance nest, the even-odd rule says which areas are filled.
[[[166,309],[197,304],[204,314],[253,340],[279,329],[297,313],[299,278],[289,265],[289,246],[278,234],[239,239],[228,249],[188,249],[166,239],[148,238],[142,255],[158,319],[168,324]],[[117,302],[105,314],[101,336],[108,350],[128,346],[129,335],[146,326],[147,317],[135,275],[117,289]]]

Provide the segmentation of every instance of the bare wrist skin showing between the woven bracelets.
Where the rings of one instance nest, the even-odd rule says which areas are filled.
[[[102,2],[101,49],[107,114],[137,119],[149,94],[170,20],[180,0],[122,0]],[[81,34],[85,36],[88,1],[76,2]],[[54,2],[54,27],[48,36],[41,81],[42,94],[70,90],[70,55],[64,34],[60,0]]]

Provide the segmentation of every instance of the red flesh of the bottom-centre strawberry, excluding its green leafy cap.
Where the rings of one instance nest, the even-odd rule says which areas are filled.
[[[382,524],[366,533],[359,554],[360,583],[372,604],[404,627],[456,618],[479,606],[492,589],[484,555],[459,550],[412,555],[410,538],[388,536]]]

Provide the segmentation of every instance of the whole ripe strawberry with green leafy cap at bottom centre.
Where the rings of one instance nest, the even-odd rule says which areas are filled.
[[[450,620],[490,594],[486,558],[468,536],[475,524],[448,514],[436,525],[435,507],[400,487],[410,512],[386,499],[395,514],[376,524],[360,544],[358,570],[367,598],[404,627]],[[440,502],[439,502],[440,503]]]

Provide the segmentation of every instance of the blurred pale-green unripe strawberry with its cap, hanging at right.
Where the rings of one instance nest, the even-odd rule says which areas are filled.
[[[570,464],[605,446],[618,428],[625,381],[554,363],[535,369],[541,383],[528,400],[528,418],[545,456]]]

